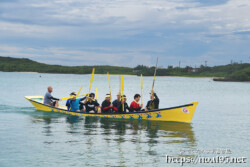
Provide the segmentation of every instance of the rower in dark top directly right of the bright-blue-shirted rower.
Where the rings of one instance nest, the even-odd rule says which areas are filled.
[[[94,93],[90,93],[89,97],[87,97],[83,103],[85,105],[84,112],[86,112],[86,113],[98,113],[98,110],[100,108],[100,104],[95,99]]]

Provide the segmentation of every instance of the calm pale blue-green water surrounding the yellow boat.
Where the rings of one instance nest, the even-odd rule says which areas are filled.
[[[110,79],[112,92],[118,92],[119,77]],[[124,79],[130,102],[134,93],[140,93],[140,78]],[[80,86],[84,93],[89,80],[90,75],[0,72],[0,166],[169,166],[165,156],[178,156],[181,150],[230,149],[230,156],[250,157],[250,83],[158,77],[155,91],[160,107],[199,101],[191,124],[78,118],[36,111],[24,99],[44,95],[49,85],[56,97]],[[151,84],[152,77],[144,77],[144,103]],[[95,88],[103,100],[107,76],[95,75]],[[249,159],[237,166],[250,166]]]

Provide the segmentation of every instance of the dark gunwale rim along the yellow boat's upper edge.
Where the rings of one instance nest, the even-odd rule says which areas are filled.
[[[127,113],[127,112],[126,112],[126,113],[86,113],[86,112],[77,112],[77,111],[65,110],[65,109],[62,109],[62,108],[57,108],[57,107],[54,107],[54,106],[50,106],[50,105],[47,105],[47,104],[43,104],[43,103],[40,103],[40,102],[38,102],[38,101],[31,100],[31,99],[29,99],[29,98],[26,98],[26,99],[28,99],[28,100],[30,100],[30,101],[32,101],[32,102],[41,104],[41,105],[45,105],[45,106],[50,107],[50,108],[57,109],[57,110],[63,110],[63,111],[73,112],[73,113],[79,113],[79,114],[93,114],[93,115],[143,114],[143,113],[157,112],[157,111],[162,111],[162,110],[171,110],[171,109],[182,108],[182,107],[188,107],[188,106],[193,106],[193,105],[194,105],[194,102],[192,102],[192,103],[190,103],[190,104],[184,104],[184,105],[175,106],[175,107],[161,108],[161,109],[148,110],[148,111],[138,111],[138,112],[128,112],[128,113]]]

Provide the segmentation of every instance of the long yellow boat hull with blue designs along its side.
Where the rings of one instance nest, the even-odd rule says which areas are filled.
[[[43,96],[25,96],[25,98],[40,111],[50,111],[59,112],[64,114],[70,114],[75,116],[86,116],[86,117],[105,117],[113,119],[145,119],[154,121],[174,121],[174,122],[186,122],[190,123],[198,102],[192,102],[181,106],[162,108],[150,111],[140,111],[133,113],[83,113],[83,112],[73,112],[67,110],[64,105],[59,105],[58,108],[43,104]]]

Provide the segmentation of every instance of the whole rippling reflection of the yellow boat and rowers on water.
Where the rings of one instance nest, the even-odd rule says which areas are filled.
[[[33,123],[43,123],[44,136],[57,133],[54,140],[60,135],[62,141],[66,140],[62,143],[70,144],[70,147],[77,143],[84,150],[82,155],[88,159],[95,158],[97,152],[100,156],[112,152],[118,156],[120,166],[126,165],[127,159],[133,156],[141,157],[138,166],[145,164],[143,157],[159,162],[168,151],[178,155],[181,148],[195,149],[197,145],[193,127],[186,123],[83,118],[51,113],[33,115],[32,118]],[[55,126],[55,123],[58,124]],[[46,138],[45,142],[50,140]]]

